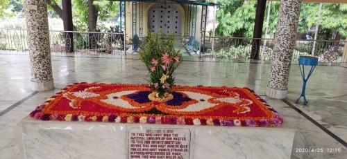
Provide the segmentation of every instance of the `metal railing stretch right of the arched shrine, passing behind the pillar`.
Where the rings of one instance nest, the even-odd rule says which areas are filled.
[[[253,39],[259,38],[205,37],[201,55],[221,59],[251,59],[251,50],[255,47]],[[319,57],[319,62],[341,62],[346,44],[347,41],[296,40],[292,60],[297,61],[301,55],[313,55]],[[273,48],[273,39],[260,39],[259,59],[271,59]]]

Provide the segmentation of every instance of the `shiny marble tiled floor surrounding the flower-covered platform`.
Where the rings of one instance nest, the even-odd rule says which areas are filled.
[[[146,70],[137,57],[115,55],[53,54],[53,78],[56,90],[73,82],[140,84]],[[13,129],[37,104],[54,91],[33,93],[30,89],[30,64],[27,53],[0,52],[0,158],[19,158]],[[269,63],[214,61],[187,57],[176,70],[176,84],[248,87],[264,97],[303,135],[307,148],[323,148],[323,153],[305,153],[305,158],[346,158],[347,140],[347,68],[318,66],[307,84],[307,106],[295,104],[301,93],[302,79],[297,65],[291,66],[289,95],[286,102],[300,109],[323,128],[317,127],[282,100],[265,96]],[[22,100],[25,97],[26,100]],[[21,101],[22,100],[22,101]],[[11,109],[8,109],[8,108]],[[13,109],[12,109],[13,108]],[[10,110],[10,111],[9,111]],[[330,131],[330,135],[323,131]],[[337,136],[332,138],[332,135]],[[341,139],[338,142],[339,138]],[[341,144],[344,143],[344,144]],[[296,147],[304,148],[304,147]],[[328,153],[327,148],[341,149]]]

